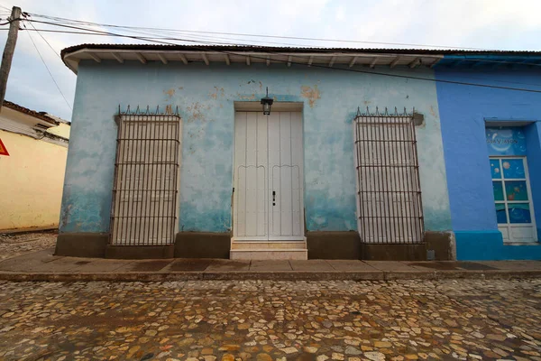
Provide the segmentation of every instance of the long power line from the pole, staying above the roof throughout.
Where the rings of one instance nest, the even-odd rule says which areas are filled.
[[[463,49],[463,50],[472,50],[472,51],[495,51],[495,49],[486,49],[486,48],[471,48],[471,47],[460,47],[460,46],[449,46],[449,45],[434,45],[434,44],[416,44],[416,43],[403,43],[403,42],[366,42],[366,41],[354,41],[354,40],[344,40],[344,39],[326,39],[326,38],[308,38],[300,36],[280,36],[280,35],[263,35],[263,34],[252,34],[252,33],[242,33],[242,32],[206,32],[206,31],[195,31],[195,30],[177,30],[177,29],[168,29],[168,28],[153,28],[153,27],[142,27],[142,26],[126,26],[126,25],[114,25],[108,23],[92,23],[81,20],[63,18],[58,16],[49,16],[42,14],[32,14],[32,16],[42,17],[45,19],[55,20],[55,21],[64,21],[72,23],[82,23],[87,25],[97,25],[113,28],[124,28],[124,29],[139,29],[139,30],[154,30],[154,31],[166,31],[166,32],[196,32],[196,33],[206,33],[206,34],[218,34],[218,35],[233,35],[233,36],[247,36],[247,37],[257,37],[257,38],[272,38],[272,39],[289,39],[289,40],[303,40],[303,41],[315,41],[315,42],[349,42],[349,43],[366,43],[366,44],[381,44],[381,45],[394,45],[394,46],[416,46],[416,47],[429,47],[429,48],[445,48],[445,49]]]

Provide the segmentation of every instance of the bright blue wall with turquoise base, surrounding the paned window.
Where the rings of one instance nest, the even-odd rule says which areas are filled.
[[[541,70],[536,69],[436,68],[436,79],[541,90]],[[458,259],[541,259],[538,247],[503,245],[485,136],[486,121],[523,124],[541,120],[541,94],[438,83],[437,97]],[[539,222],[541,204],[536,206],[536,199],[541,202],[541,133],[538,123],[528,129],[528,168]]]

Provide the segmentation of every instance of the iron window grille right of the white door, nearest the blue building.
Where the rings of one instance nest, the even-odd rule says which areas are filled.
[[[414,110],[415,113],[415,110]],[[424,242],[413,114],[365,114],[354,120],[357,225],[363,243]]]

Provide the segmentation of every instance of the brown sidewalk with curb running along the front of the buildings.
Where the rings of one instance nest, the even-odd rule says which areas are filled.
[[[396,280],[541,277],[541,261],[391,262],[356,260],[111,260],[64,257],[53,249],[0,262],[0,280]]]

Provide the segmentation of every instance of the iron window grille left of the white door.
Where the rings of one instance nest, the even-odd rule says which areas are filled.
[[[112,245],[171,245],[177,224],[180,117],[147,107],[117,116]]]

